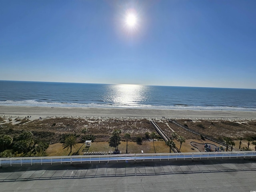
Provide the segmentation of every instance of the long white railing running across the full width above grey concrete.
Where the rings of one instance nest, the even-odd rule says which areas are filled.
[[[44,163],[69,163],[73,162],[109,162],[128,160],[169,160],[169,159],[194,159],[194,158],[246,158],[255,157],[256,151],[233,152],[195,152],[195,153],[152,153],[152,154],[119,154],[119,155],[92,155],[92,156],[54,156],[54,157],[19,157],[0,158],[0,166],[13,164],[44,164]]]

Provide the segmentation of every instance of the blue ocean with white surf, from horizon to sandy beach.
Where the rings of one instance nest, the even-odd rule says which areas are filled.
[[[0,81],[0,105],[256,110],[256,89]]]

